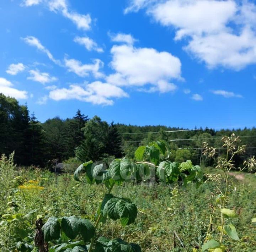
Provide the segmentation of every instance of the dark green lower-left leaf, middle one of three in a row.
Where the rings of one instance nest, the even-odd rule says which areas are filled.
[[[78,235],[80,224],[81,219],[75,216],[63,217],[61,221],[63,232],[72,240]]]

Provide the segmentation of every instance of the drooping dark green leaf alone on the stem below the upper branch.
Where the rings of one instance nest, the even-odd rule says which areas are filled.
[[[129,199],[114,197],[111,194],[105,195],[101,203],[101,213],[112,220],[120,219],[123,226],[129,225],[137,217],[137,207]]]

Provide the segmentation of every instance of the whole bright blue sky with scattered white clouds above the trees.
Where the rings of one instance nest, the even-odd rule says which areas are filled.
[[[40,121],[253,127],[255,25],[254,1],[1,1],[0,92]]]

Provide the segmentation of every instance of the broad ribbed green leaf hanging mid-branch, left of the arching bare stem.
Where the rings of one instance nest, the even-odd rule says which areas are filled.
[[[129,159],[115,159],[110,164],[110,175],[117,185],[122,181],[130,180],[133,171],[133,164]]]

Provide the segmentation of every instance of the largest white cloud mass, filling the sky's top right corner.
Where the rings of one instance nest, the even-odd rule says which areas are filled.
[[[175,28],[174,39],[186,39],[184,50],[209,68],[223,66],[241,70],[256,63],[256,5],[253,2],[132,0],[131,6],[130,11],[146,8],[155,21]]]

